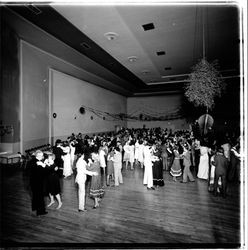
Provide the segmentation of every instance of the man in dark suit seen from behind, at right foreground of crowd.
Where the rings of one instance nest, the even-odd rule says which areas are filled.
[[[227,168],[228,168],[228,160],[224,156],[223,148],[219,148],[214,157],[214,161],[212,164],[215,166],[215,175],[214,175],[214,196],[217,196],[217,187],[218,180],[221,177],[222,189],[223,189],[223,197],[226,198],[226,178],[227,178]]]

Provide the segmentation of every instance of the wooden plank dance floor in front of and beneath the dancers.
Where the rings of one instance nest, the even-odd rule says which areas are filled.
[[[240,184],[229,185],[224,199],[210,194],[206,181],[173,182],[168,172],[164,172],[165,186],[155,191],[143,185],[139,167],[123,169],[123,178],[123,185],[105,188],[100,208],[92,209],[93,200],[87,197],[86,213],[78,212],[75,177],[61,178],[63,206],[56,210],[55,204],[47,209],[47,215],[37,217],[31,211],[25,171],[1,166],[2,246],[239,246]]]

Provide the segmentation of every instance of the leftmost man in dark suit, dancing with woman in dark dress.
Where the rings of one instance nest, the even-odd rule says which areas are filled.
[[[44,181],[46,177],[45,164],[43,162],[43,152],[37,150],[35,158],[30,162],[30,186],[32,191],[32,211],[36,211],[37,216],[47,214],[45,210]]]

